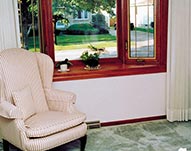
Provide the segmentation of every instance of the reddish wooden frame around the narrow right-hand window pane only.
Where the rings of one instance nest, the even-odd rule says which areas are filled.
[[[156,58],[154,59],[144,59],[144,64],[148,65],[166,65],[166,56],[167,56],[167,23],[168,23],[168,0],[155,0],[155,21],[157,22],[155,25],[155,49],[156,49]],[[126,46],[126,42],[128,43],[128,23],[129,20],[125,14],[128,14],[128,1],[123,1],[123,9],[122,9],[122,20],[123,23],[121,24],[121,29],[123,29],[124,35],[121,38],[123,42],[123,50],[125,52],[121,55],[125,57],[124,63],[130,65],[139,65],[141,63],[137,62],[137,59],[129,58],[128,57],[128,46]],[[127,48],[126,48],[127,47]]]

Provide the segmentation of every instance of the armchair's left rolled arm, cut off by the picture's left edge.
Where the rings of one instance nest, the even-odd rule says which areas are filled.
[[[0,116],[7,119],[21,119],[23,113],[15,105],[7,101],[0,101]]]

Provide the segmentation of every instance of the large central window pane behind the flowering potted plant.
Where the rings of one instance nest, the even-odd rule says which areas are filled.
[[[71,6],[66,1],[64,3],[53,0],[52,3],[55,61],[66,58],[80,60],[82,52],[88,50],[89,45],[105,48],[106,51],[100,55],[100,58],[117,57],[115,6],[112,7],[113,13],[108,13],[104,9],[88,10],[90,6]],[[55,19],[55,15],[59,17]],[[58,22],[62,23],[62,28],[58,26]]]

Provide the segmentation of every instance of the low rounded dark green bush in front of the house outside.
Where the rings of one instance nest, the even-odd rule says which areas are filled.
[[[73,24],[66,30],[67,34],[71,35],[95,35],[99,30],[94,28],[91,24]]]

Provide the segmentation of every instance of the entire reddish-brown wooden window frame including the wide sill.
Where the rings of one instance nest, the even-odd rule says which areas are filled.
[[[100,60],[103,69],[97,71],[85,71],[80,60],[72,61],[74,66],[71,72],[59,73],[55,69],[54,80],[77,80],[88,78],[101,78],[134,74],[147,74],[166,72],[167,62],[167,23],[168,23],[168,0],[156,0],[156,59],[145,60],[139,64],[135,59],[127,59],[128,51],[126,41],[128,40],[128,1],[117,0],[117,58],[105,58]],[[52,0],[40,0],[41,9],[39,16],[42,28],[41,51],[54,59],[54,39],[52,23]]]

